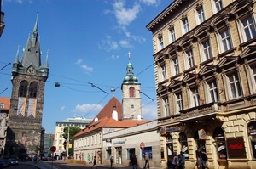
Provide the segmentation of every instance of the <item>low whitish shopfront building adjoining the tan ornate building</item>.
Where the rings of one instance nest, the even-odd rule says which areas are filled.
[[[121,164],[128,166],[131,159],[128,151],[134,149],[137,155],[139,167],[143,167],[143,151],[140,144],[145,144],[145,150],[151,149],[152,159],[149,164],[151,167],[160,167],[160,135],[156,133],[157,121],[149,121],[137,127],[122,129],[117,132],[106,133],[103,135],[102,142],[102,164],[110,163],[110,154],[114,157],[114,165]],[[146,150],[147,151],[147,150]]]

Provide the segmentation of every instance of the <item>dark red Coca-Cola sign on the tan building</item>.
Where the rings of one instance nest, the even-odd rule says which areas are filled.
[[[227,138],[227,149],[230,159],[247,158],[243,138]]]

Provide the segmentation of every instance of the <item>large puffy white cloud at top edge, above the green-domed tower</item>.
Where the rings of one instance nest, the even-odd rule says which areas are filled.
[[[124,1],[118,1],[113,3],[113,9],[115,17],[118,20],[119,25],[129,25],[136,19],[137,14],[140,11],[140,5],[134,4],[132,8],[126,9]]]

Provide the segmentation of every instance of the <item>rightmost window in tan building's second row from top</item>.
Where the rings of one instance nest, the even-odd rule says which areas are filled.
[[[247,19],[242,20],[242,25],[247,41],[253,39],[253,37],[256,37],[255,25],[252,16],[249,16]]]

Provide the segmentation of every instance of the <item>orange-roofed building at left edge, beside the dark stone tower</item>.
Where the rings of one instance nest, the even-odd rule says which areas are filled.
[[[10,98],[0,97],[0,156],[3,155],[8,127]]]

